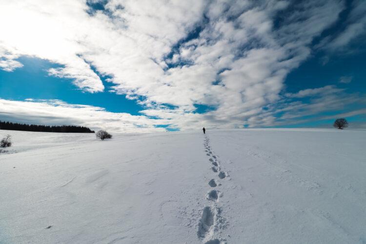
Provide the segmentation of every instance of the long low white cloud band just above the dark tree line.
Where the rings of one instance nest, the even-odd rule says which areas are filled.
[[[0,99],[0,118],[23,123],[36,124],[75,124],[91,129],[131,133],[159,132],[164,128],[155,128],[157,124],[169,124],[167,120],[151,120],[146,116],[134,116],[127,113],[111,113],[103,108],[68,104],[59,100],[9,101]]]

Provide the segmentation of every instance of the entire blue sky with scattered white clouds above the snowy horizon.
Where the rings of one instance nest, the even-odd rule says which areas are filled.
[[[0,120],[366,128],[365,1],[0,5]]]

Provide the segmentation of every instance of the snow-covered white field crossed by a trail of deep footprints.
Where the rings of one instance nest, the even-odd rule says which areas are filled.
[[[366,131],[0,130],[0,243],[366,243]]]

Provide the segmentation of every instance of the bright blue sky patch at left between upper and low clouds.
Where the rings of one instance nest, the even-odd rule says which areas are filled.
[[[61,100],[70,104],[83,104],[105,108],[115,113],[141,115],[143,106],[125,95],[109,92],[112,83],[108,77],[100,76],[104,92],[88,93],[76,87],[71,79],[49,76],[49,68],[61,67],[59,64],[34,57],[20,57],[24,66],[13,72],[0,70],[0,98],[8,100]]]

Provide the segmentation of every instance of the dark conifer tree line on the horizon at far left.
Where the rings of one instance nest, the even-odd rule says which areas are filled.
[[[37,125],[0,121],[0,130],[21,130],[37,132],[94,133],[94,130],[77,125]]]

